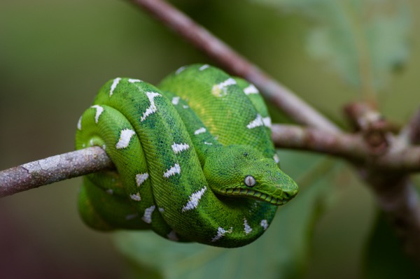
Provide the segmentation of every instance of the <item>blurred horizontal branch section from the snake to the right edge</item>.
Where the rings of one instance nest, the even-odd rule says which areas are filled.
[[[272,125],[272,140],[277,148],[308,150],[349,160],[359,167],[393,173],[420,171],[420,147],[405,145],[395,136],[388,136],[388,152],[378,154],[363,134],[335,134],[295,125]]]

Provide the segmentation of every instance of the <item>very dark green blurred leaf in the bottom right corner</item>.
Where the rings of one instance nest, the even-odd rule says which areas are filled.
[[[419,267],[402,251],[384,214],[377,215],[363,264],[367,279],[420,278]]]

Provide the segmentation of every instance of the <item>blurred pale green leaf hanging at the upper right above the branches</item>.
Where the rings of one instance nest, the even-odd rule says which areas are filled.
[[[252,0],[311,20],[307,51],[366,96],[408,57],[409,8],[393,0]],[[315,22],[315,24],[313,24]]]

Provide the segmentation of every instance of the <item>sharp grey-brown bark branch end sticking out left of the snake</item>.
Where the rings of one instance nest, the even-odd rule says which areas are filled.
[[[55,155],[0,171],[0,197],[112,167],[97,146]]]

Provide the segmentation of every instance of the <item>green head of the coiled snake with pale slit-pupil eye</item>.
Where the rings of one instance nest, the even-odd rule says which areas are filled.
[[[212,151],[203,170],[212,191],[223,196],[280,206],[298,191],[295,181],[279,169],[274,159],[246,145],[228,145]]]

